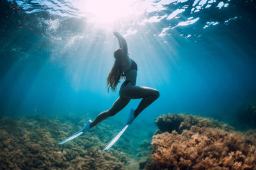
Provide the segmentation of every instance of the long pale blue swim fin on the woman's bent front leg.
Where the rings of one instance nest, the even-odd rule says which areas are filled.
[[[111,141],[109,141],[108,145],[105,146],[105,148],[101,152],[104,152],[105,150],[108,150],[109,148],[111,148],[111,146],[113,146],[116,143],[116,141],[118,141],[120,136],[122,136],[122,134],[124,134],[127,127],[129,127],[129,125],[131,125],[131,123],[133,122],[134,119],[135,119],[134,110],[131,109],[127,123],[124,125],[124,127],[122,127],[122,129],[118,132],[118,134],[116,134],[116,136],[113,139],[111,139]]]

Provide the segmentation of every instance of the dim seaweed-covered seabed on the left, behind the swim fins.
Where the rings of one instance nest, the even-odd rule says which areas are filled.
[[[0,118],[0,169],[124,169],[129,157],[101,153],[104,143],[88,132],[63,146],[55,143],[81,128],[61,118]],[[105,130],[106,131],[106,130]]]

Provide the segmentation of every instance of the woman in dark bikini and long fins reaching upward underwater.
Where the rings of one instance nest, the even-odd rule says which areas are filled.
[[[68,141],[83,134],[84,131],[87,131],[88,129],[91,129],[95,125],[99,124],[100,122],[102,122],[102,120],[105,120],[108,117],[112,117],[116,115],[116,113],[122,110],[129,103],[131,99],[142,98],[138,108],[136,108],[136,110],[131,109],[129,118],[125,124],[127,126],[126,127],[124,126],[126,129],[133,122],[133,120],[136,117],[138,117],[141,111],[147,108],[147,106],[149,106],[159,97],[159,91],[156,89],[152,89],[149,87],[136,86],[136,78],[137,78],[137,70],[138,70],[137,64],[128,55],[127,43],[124,37],[118,32],[113,32],[113,34],[118,39],[120,48],[118,48],[114,52],[115,63],[108,75],[107,80],[108,80],[108,88],[112,89],[113,91],[116,91],[116,85],[118,85],[119,80],[121,78],[125,78],[125,81],[124,83],[122,83],[119,90],[119,97],[118,99],[116,99],[115,103],[113,104],[113,106],[111,106],[109,110],[103,111],[102,113],[100,113],[95,118],[95,120],[93,121],[89,120],[87,124],[83,127],[83,129],[81,129],[81,131],[77,132],[70,138],[65,139],[64,141],[61,141],[58,144],[67,143]],[[122,134],[120,134],[120,136],[121,135]]]

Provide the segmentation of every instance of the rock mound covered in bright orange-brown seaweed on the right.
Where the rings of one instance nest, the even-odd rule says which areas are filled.
[[[153,136],[154,153],[145,169],[256,169],[255,131],[243,134],[216,120],[182,114],[160,121],[166,124]],[[180,124],[168,129],[175,121]]]

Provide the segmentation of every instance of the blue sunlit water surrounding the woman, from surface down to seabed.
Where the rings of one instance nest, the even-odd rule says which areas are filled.
[[[106,87],[118,48],[113,31],[138,64],[137,85],[160,92],[138,124],[167,113],[228,122],[256,101],[254,0],[126,1],[124,15],[101,3],[1,0],[1,115],[93,119],[108,110],[118,97]],[[116,117],[125,122],[139,102]]]

